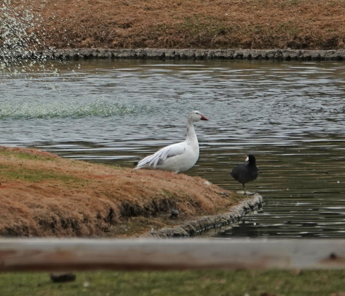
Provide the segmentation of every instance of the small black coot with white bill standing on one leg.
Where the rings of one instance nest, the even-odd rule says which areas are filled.
[[[247,162],[244,164],[240,164],[235,167],[229,174],[243,185],[244,194],[246,194],[244,185],[250,181],[254,181],[259,175],[254,155],[249,154],[246,161]]]

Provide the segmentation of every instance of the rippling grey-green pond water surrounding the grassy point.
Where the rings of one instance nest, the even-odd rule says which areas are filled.
[[[246,154],[265,206],[216,237],[345,236],[345,63],[65,61],[0,73],[0,145],[132,167],[183,141],[193,109],[201,176],[230,190]]]

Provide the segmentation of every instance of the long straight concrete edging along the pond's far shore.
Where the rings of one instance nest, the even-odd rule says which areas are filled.
[[[14,53],[18,59],[160,59],[160,60],[280,60],[345,61],[342,50],[294,49],[53,49]],[[1,56],[0,56],[1,59]]]

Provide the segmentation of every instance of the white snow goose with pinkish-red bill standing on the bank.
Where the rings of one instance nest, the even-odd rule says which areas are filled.
[[[208,119],[199,111],[190,112],[186,140],[164,147],[155,154],[141,159],[134,169],[159,169],[178,173],[192,168],[199,158],[199,142],[194,130],[194,122],[199,120]]]

